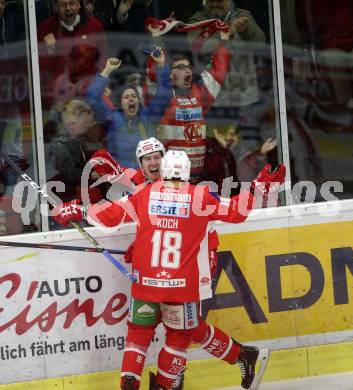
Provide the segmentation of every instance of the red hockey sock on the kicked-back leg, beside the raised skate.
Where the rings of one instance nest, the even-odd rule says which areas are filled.
[[[234,364],[239,356],[241,346],[222,330],[208,325],[201,348],[219,359]]]

